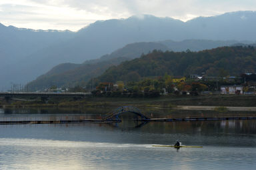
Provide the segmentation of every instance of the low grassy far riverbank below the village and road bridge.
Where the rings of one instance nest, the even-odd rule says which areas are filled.
[[[47,103],[41,101],[0,101],[2,108],[79,108],[85,107],[119,107],[133,105],[143,108],[169,108],[185,110],[214,110],[225,107],[229,111],[256,111],[255,95],[201,95],[162,96],[155,98],[125,98],[125,97],[89,97],[72,101],[71,99],[50,99]]]

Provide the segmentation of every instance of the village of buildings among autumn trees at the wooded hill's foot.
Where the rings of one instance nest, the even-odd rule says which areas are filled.
[[[98,96],[157,97],[159,95],[255,95],[256,74],[244,73],[241,77],[157,77],[138,82],[123,81],[100,83],[93,93]]]

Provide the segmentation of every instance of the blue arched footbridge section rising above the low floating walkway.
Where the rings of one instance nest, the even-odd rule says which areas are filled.
[[[133,113],[133,114],[141,117],[141,119],[143,119],[143,120],[149,120],[149,118],[147,118],[145,115],[143,115],[137,107],[133,107],[133,106],[118,107],[117,109],[115,109],[115,111],[113,111],[111,113],[107,113],[107,115],[105,115],[104,120],[120,120],[119,115],[121,115],[122,113]]]

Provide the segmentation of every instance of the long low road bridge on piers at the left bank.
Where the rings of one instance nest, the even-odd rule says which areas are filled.
[[[39,97],[42,101],[47,101],[49,97],[73,97],[73,99],[79,99],[83,97],[90,96],[91,93],[55,93],[55,92],[18,92],[9,93],[2,92],[0,97],[4,97],[6,101],[13,99],[15,97],[29,98],[29,97]]]

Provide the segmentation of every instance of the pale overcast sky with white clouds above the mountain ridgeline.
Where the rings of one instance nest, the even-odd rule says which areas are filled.
[[[97,20],[150,14],[187,21],[231,11],[256,11],[256,0],[0,0],[0,23],[77,31]]]

